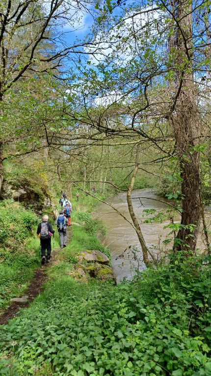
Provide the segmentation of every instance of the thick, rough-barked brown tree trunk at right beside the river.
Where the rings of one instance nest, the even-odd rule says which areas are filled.
[[[178,0],[174,5],[176,95],[171,111],[176,149],[180,160],[182,187],[181,228],[176,237],[174,252],[196,250],[201,218],[199,141],[201,120],[192,69],[192,5]],[[193,226],[192,226],[193,225]],[[189,252],[187,252],[189,254]]]

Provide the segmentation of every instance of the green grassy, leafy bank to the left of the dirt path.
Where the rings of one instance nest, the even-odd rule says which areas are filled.
[[[11,200],[0,202],[0,312],[26,291],[40,265],[38,217]]]

